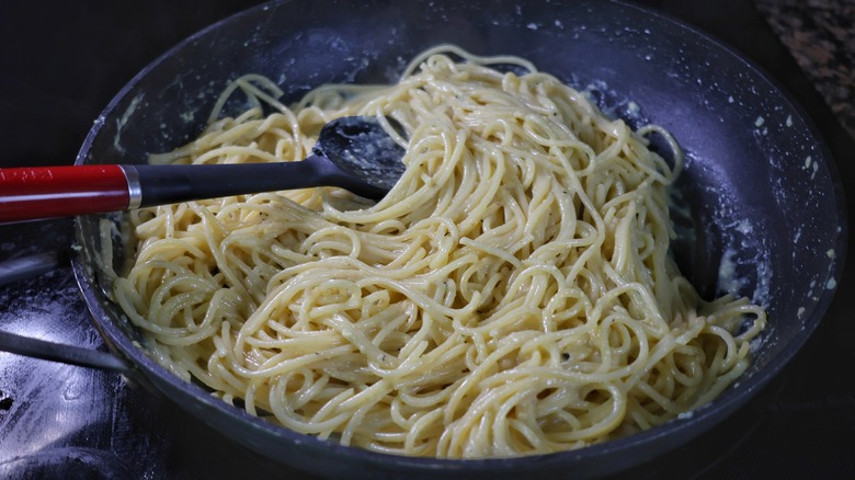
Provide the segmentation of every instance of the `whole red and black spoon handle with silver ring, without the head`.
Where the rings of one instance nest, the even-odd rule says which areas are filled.
[[[334,185],[323,157],[212,165],[76,165],[0,169],[0,224]]]

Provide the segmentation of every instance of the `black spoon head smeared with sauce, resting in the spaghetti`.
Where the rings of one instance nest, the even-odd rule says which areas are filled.
[[[402,133],[394,118],[386,117],[386,121]],[[354,182],[381,192],[369,195],[373,197],[385,195],[406,170],[401,162],[406,150],[389,136],[377,117],[346,116],[330,122],[321,129],[315,152],[327,157]],[[354,193],[360,192],[354,190]]]

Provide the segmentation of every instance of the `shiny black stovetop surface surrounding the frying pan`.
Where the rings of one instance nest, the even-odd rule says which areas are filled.
[[[845,0],[843,0],[845,1]],[[252,1],[12,0],[0,8],[0,167],[71,163],[110,99],[184,37]],[[788,90],[819,126],[853,192],[855,141],[749,0],[649,0],[733,46]],[[855,208],[850,206],[850,213]],[[851,225],[852,225],[852,220]],[[67,250],[71,222],[0,226],[0,261]],[[636,478],[855,476],[855,323],[848,263],[831,310],[752,401]],[[0,329],[105,350],[71,270],[0,285]],[[821,372],[836,372],[827,375]],[[840,375],[840,372],[844,372]],[[273,465],[117,374],[0,353],[0,477],[306,478]]]

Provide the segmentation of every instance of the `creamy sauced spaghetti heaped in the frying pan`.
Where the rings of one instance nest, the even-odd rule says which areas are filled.
[[[255,106],[219,118],[235,90]],[[661,128],[451,46],[394,85],[280,94],[238,80],[198,139],[152,162],[297,161],[330,119],[376,115],[407,132],[390,132],[406,173],[376,204],[310,188],[133,213],[114,297],[182,378],[344,445],[483,458],[649,428],[750,364],[763,309],[700,299],[668,254],[681,155]]]

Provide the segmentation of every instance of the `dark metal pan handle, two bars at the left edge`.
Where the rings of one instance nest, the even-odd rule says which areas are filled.
[[[50,272],[60,265],[64,256],[58,252],[46,252],[0,262],[0,285]],[[134,369],[130,363],[112,353],[21,336],[2,330],[0,352],[122,374]]]

